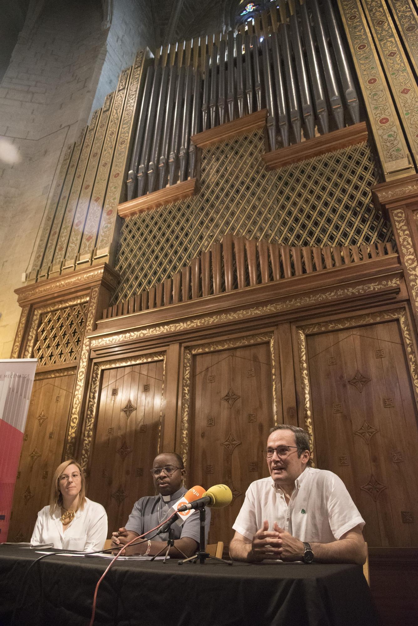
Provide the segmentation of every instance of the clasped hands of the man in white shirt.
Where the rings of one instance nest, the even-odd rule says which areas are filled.
[[[283,561],[300,561],[304,552],[302,541],[278,526],[277,521],[273,530],[268,530],[268,521],[263,522],[263,528],[257,530],[253,536],[250,560],[262,561],[268,559],[282,559]]]

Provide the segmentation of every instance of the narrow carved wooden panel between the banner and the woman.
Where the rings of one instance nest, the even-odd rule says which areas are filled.
[[[63,456],[74,379],[69,374],[33,383],[9,541],[29,541],[38,511],[49,503],[51,478]]]

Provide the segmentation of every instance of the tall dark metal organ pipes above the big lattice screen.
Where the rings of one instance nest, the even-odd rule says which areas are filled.
[[[196,175],[201,131],[267,109],[270,150],[360,121],[329,0],[273,6],[238,31],[158,51],[146,73],[128,200]],[[303,136],[302,136],[303,133]]]

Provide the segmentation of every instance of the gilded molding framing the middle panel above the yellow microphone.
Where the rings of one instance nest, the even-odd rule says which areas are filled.
[[[180,455],[183,458],[185,468],[188,465],[189,434],[190,434],[190,393],[191,393],[191,358],[195,354],[205,354],[206,352],[218,352],[241,346],[253,346],[254,344],[267,343],[270,346],[270,357],[272,359],[272,392],[273,392],[273,421],[278,424],[277,415],[277,381],[275,368],[275,341],[274,333],[268,332],[261,335],[248,335],[246,337],[231,337],[223,341],[199,344],[197,346],[186,347],[183,355],[183,389],[181,393],[181,433],[180,433]]]

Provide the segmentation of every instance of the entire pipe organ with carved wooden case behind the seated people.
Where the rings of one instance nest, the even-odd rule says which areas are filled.
[[[111,532],[175,450],[188,485],[230,486],[210,530],[227,544],[290,423],[369,548],[418,545],[418,16],[277,4],[140,51],[68,146],[16,290],[13,357],[39,365],[9,540],[62,458]]]

